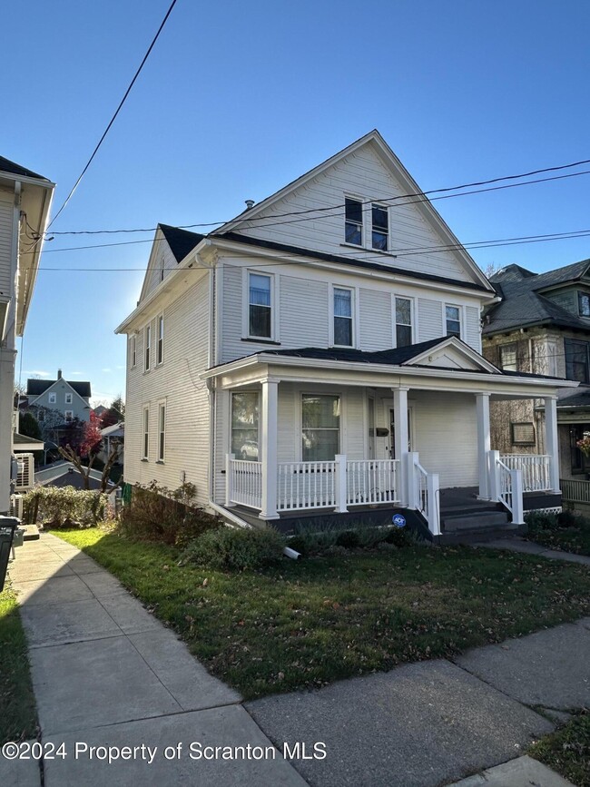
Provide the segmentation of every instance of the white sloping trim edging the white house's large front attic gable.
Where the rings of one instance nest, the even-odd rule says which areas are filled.
[[[463,268],[468,272],[472,283],[478,282],[481,286],[481,289],[493,291],[492,285],[486,279],[482,271],[479,270],[471,255],[457,240],[456,235],[448,227],[447,222],[444,221],[442,216],[434,208],[432,203],[428,200],[428,197],[424,195],[424,192],[422,192],[422,190],[419,188],[418,183],[413,179],[408,170],[399,161],[398,156],[396,156],[396,154],[391,150],[391,148],[388,146],[388,143],[385,142],[377,129],[373,129],[373,131],[360,137],[356,142],[349,144],[343,150],[335,153],[333,156],[330,156],[325,162],[320,163],[309,172],[305,172],[303,175],[300,175],[299,178],[288,183],[278,192],[270,194],[270,196],[266,197],[266,199],[258,202],[246,211],[242,211],[234,219],[226,222],[225,224],[222,224],[221,227],[218,227],[216,230],[212,231],[211,236],[223,235],[232,231],[239,231],[242,224],[251,221],[256,216],[259,216],[262,212],[270,208],[271,205],[284,199],[284,197],[290,192],[300,189],[313,178],[316,178],[321,173],[326,172],[329,168],[334,167],[338,162],[342,161],[347,156],[359,151],[360,148],[367,145],[372,145],[377,150],[381,160],[388,166],[389,170],[393,172],[396,180],[400,183],[403,189],[405,189],[408,193],[422,196],[422,199],[416,201],[417,210],[422,213],[423,217],[426,219],[426,221],[428,221],[434,231],[437,231],[441,237],[446,239],[447,244],[449,244],[454,250],[454,253],[457,255],[457,258],[461,262]],[[388,202],[388,200],[384,199],[383,202]],[[247,229],[252,231],[251,227],[247,227]]]

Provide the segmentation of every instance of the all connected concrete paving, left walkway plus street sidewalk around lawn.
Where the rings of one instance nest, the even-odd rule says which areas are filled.
[[[242,705],[113,575],[61,539],[44,534],[27,543],[10,575],[42,741],[64,743],[67,753],[45,760],[45,787],[439,787],[474,773],[465,787],[568,783],[520,755],[568,710],[590,705],[590,619],[478,648],[454,663],[405,664]],[[243,755],[192,759],[193,742],[241,746]],[[305,750],[284,759],[284,746],[292,751],[296,743]],[[252,756],[265,756],[244,759],[249,745],[261,747]],[[97,759],[123,746],[131,760]],[[39,768],[0,759],[0,784],[39,787]]]

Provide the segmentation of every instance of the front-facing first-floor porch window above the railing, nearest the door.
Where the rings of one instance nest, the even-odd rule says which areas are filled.
[[[340,452],[340,398],[303,394],[301,398],[301,459],[331,462]]]

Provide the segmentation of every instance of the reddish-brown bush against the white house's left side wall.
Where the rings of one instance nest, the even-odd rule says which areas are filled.
[[[222,525],[219,516],[192,506],[196,488],[183,484],[174,491],[153,481],[132,488],[131,503],[121,512],[121,528],[145,541],[164,541],[183,548],[207,530]]]

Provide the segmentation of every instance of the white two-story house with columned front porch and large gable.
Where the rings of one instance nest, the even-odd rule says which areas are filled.
[[[401,511],[437,538],[446,507],[517,525],[530,472],[558,505],[564,383],[483,358],[497,294],[377,131],[247,205],[208,236],[156,231],[117,329],[125,481],[283,530]],[[546,408],[533,471],[490,445],[490,399],[523,397]]]

